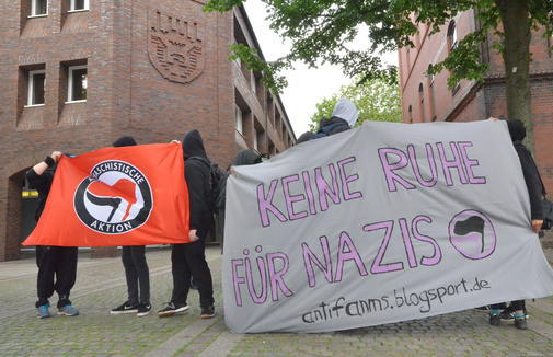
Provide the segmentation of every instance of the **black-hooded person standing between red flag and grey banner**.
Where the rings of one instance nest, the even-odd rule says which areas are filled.
[[[210,161],[198,130],[184,137],[184,173],[188,185],[191,243],[173,244],[171,264],[173,292],[168,306],[158,311],[160,318],[171,316],[189,309],[186,300],[191,287],[191,275],[198,286],[200,318],[215,316],[211,272],[206,262],[206,237],[212,226],[212,212],[208,206],[210,195]]]

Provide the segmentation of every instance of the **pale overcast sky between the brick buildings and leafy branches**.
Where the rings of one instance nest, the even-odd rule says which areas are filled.
[[[275,60],[286,55],[287,46],[281,37],[274,33],[266,18],[266,7],[261,0],[247,0],[245,9],[250,22],[267,61]],[[366,34],[366,33],[365,33]],[[369,42],[364,32],[359,38],[352,44],[352,48],[366,48]],[[390,65],[398,65],[398,55],[387,54],[384,61]],[[296,64],[292,70],[284,73],[288,79],[288,87],[280,95],[290,123],[299,137],[309,129],[309,118],[315,112],[315,104],[323,97],[332,96],[341,85],[349,84],[352,80],[345,77],[341,69],[335,66],[324,65],[318,69],[308,69],[303,64]]]

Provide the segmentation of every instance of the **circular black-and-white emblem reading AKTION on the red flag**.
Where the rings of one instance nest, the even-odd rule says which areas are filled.
[[[104,234],[123,234],[148,221],[153,207],[148,178],[128,162],[96,164],[77,188],[74,211],[88,228]]]

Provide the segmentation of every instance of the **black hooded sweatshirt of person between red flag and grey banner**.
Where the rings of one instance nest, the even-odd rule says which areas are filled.
[[[204,238],[212,223],[208,206],[210,182],[210,161],[198,130],[192,130],[183,139],[184,177],[188,185],[191,229],[198,230]]]

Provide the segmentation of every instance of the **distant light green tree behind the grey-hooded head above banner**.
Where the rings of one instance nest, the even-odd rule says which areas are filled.
[[[347,97],[359,110],[356,125],[365,120],[401,122],[400,89],[380,78],[367,80],[360,84],[343,85],[338,93],[323,99],[316,104],[316,112],[311,115],[311,130],[319,128],[322,118],[330,118],[341,97]]]

